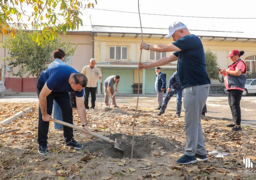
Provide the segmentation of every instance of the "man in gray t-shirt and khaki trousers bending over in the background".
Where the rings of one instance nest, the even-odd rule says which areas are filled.
[[[111,100],[112,100],[114,107],[118,108],[118,106],[115,103],[114,92],[118,91],[117,88],[118,88],[119,79],[120,79],[120,76],[115,75],[115,76],[109,76],[104,81],[104,95],[105,95],[104,99],[105,99],[105,104],[107,107],[109,107]],[[115,90],[114,90],[114,85],[115,85]],[[110,103],[108,103],[108,95],[111,98]]]

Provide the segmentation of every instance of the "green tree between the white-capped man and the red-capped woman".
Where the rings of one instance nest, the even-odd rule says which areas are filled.
[[[205,51],[206,71],[211,80],[219,79],[217,55],[209,49]]]

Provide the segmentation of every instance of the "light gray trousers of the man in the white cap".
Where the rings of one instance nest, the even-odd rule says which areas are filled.
[[[185,131],[187,145],[185,155],[205,155],[201,114],[209,94],[210,85],[190,86],[183,89],[183,105],[185,109]]]

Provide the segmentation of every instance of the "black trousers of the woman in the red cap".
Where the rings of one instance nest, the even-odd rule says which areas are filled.
[[[238,89],[230,89],[230,90],[227,90],[227,92],[228,92],[229,106],[230,106],[231,114],[233,117],[233,121],[236,123],[236,125],[241,125],[240,101],[242,98],[243,91]]]

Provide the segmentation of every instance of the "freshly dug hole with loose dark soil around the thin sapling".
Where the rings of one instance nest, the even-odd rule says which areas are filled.
[[[119,149],[114,148],[114,145],[103,140],[88,141],[84,144],[86,149],[91,153],[96,151],[104,151],[104,156],[111,158],[131,158],[132,155],[132,140],[133,137],[125,134],[111,134],[109,136],[113,141],[116,139],[119,144]],[[177,145],[173,141],[164,139],[154,135],[143,135],[134,137],[133,158],[146,158],[153,156],[155,153],[174,152]]]

